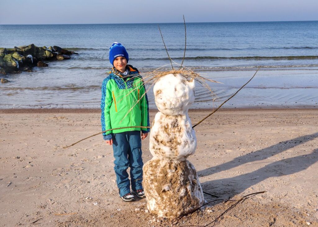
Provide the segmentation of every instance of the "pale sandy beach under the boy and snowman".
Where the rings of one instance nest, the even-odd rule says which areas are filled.
[[[62,148],[100,131],[98,110],[0,112],[0,226],[205,225],[235,202],[212,202],[177,223],[156,218],[146,199],[119,198],[112,148],[100,135]],[[207,113],[189,116],[195,124]],[[195,131],[188,160],[203,191],[224,200],[266,191],[217,226],[318,226],[317,109],[219,110]],[[151,159],[149,138],[143,159]]]

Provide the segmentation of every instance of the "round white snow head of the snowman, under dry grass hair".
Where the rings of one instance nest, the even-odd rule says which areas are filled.
[[[194,102],[195,81],[181,74],[162,76],[154,86],[158,110],[167,115],[186,114]]]

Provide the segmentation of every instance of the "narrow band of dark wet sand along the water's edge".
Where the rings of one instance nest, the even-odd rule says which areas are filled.
[[[190,109],[189,113],[197,112],[211,112],[214,109]],[[317,107],[313,106],[298,106],[298,107],[244,107],[244,108],[220,108],[218,111],[263,111],[263,110],[273,110],[273,111],[286,111],[286,110],[318,110]],[[156,113],[157,109],[149,109],[150,113]],[[21,109],[0,109],[2,114],[20,114],[20,113],[100,113],[100,109],[93,108],[41,108],[41,109],[31,109],[31,108],[21,108]]]

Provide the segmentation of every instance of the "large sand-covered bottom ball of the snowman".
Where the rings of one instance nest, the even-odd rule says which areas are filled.
[[[152,159],[143,166],[143,185],[150,213],[176,218],[204,202],[197,171],[188,160]]]

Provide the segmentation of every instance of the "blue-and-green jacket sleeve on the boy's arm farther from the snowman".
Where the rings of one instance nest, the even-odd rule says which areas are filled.
[[[112,96],[109,89],[107,89],[107,82],[109,81],[110,77],[104,79],[103,84],[101,86],[101,101],[100,101],[100,109],[101,109],[101,130],[105,131],[111,129],[110,126],[110,116],[109,116],[109,109],[112,104]],[[103,133],[103,136],[112,133],[112,131],[107,131]]]

